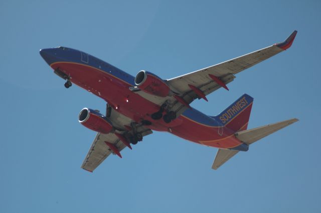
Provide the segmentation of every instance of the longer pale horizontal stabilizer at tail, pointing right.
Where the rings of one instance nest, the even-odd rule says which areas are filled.
[[[246,144],[251,144],[277,130],[280,130],[281,128],[284,128],[285,126],[288,126],[294,122],[298,121],[298,119],[293,118],[289,120],[284,120],[281,122],[273,123],[264,125],[257,128],[247,129],[243,131],[238,131],[235,133],[235,136],[241,140],[242,142]]]

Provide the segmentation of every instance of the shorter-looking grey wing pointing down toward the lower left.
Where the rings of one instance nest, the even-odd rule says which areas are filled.
[[[111,108],[107,107],[106,111],[108,110],[111,110]],[[131,148],[128,141],[134,131],[141,133],[142,136],[152,133],[149,128],[146,128],[142,124],[134,123],[133,120],[115,110],[109,111],[108,114],[108,118],[112,121],[115,130],[108,134],[97,133],[81,165],[81,167],[87,171],[92,172],[111,153],[121,157],[120,151],[122,149],[126,146]]]

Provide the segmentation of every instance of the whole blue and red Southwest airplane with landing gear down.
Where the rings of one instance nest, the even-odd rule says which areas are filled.
[[[93,171],[111,153],[142,141],[156,131],[168,131],[186,140],[217,147],[213,169],[217,169],[250,144],[298,119],[247,129],[253,97],[241,95],[216,116],[206,115],[190,106],[195,99],[208,101],[206,95],[234,80],[235,74],[288,49],[294,30],[283,42],[171,79],[141,70],[132,76],[86,52],[58,46],[40,50],[54,73],[66,80],[65,87],[76,84],[106,101],[105,114],[83,108],[79,122],[97,132],[81,167]]]

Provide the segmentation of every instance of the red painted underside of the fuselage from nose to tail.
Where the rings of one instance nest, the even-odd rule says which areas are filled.
[[[114,77],[113,75],[79,63],[55,63],[52,68],[61,69],[71,77],[74,84],[106,100],[115,110],[125,116],[140,122],[150,120],[152,125],[148,127],[158,131],[169,131],[187,140],[204,145],[227,148],[239,145],[231,135],[218,134],[218,126],[204,125],[181,115],[170,123],[163,119],[152,120],[150,114],[159,109],[155,104],[135,92],[129,90],[129,83]],[[234,134],[233,134],[234,136]],[[235,137],[235,136],[234,136]],[[205,142],[204,142],[205,141]]]

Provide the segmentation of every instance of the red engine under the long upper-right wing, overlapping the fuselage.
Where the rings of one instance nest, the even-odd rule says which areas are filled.
[[[141,70],[135,77],[135,84],[141,90],[161,97],[170,95],[171,89],[162,78],[157,75]]]

